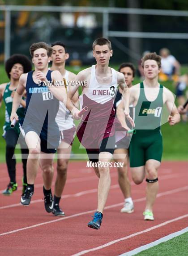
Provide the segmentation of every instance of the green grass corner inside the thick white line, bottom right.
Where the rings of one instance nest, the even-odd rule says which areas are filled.
[[[188,253],[188,232],[171,240],[158,244],[137,256],[186,256]]]

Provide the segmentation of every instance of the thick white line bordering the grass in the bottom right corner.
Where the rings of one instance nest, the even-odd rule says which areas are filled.
[[[163,238],[160,238],[152,243],[148,243],[146,245],[143,245],[141,247],[137,247],[136,249],[132,250],[132,251],[129,251],[129,252],[125,252],[123,254],[120,254],[119,256],[132,256],[132,255],[135,255],[139,252],[142,252],[142,251],[145,251],[147,249],[150,249],[151,247],[154,247],[156,245],[158,245],[159,243],[163,243],[163,242],[167,242],[168,240],[172,239],[172,238],[175,238],[177,236],[180,236],[182,234],[184,234],[185,232],[188,232],[188,228],[185,228],[185,229],[182,229],[180,231],[177,231],[175,233],[172,233],[172,234],[169,234]]]

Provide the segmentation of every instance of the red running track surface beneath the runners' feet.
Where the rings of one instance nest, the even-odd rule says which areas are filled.
[[[44,210],[41,171],[36,179],[32,203],[29,207],[20,205],[22,171],[21,165],[18,166],[19,189],[10,197],[0,194],[1,256],[72,256],[83,255],[85,250],[89,250],[84,254],[87,256],[117,256],[188,225],[186,162],[162,163],[154,221],[144,221],[142,216],[145,182],[132,184],[134,213],[120,213],[124,198],[117,184],[117,171],[112,168],[111,190],[99,230],[87,227],[97,206],[98,178],[91,168],[86,168],[86,162],[69,163],[68,180],[61,200],[66,214],[63,218]],[[5,165],[1,165],[0,178],[2,192],[9,183]],[[114,242],[120,238],[123,241]],[[106,247],[103,246],[105,244]],[[92,248],[95,248],[94,251],[90,251]]]

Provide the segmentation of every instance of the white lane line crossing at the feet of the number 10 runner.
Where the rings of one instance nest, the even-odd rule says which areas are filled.
[[[176,175],[176,174],[174,174],[174,175],[164,175],[160,178],[160,180],[167,180],[167,179],[170,179],[170,178],[173,179],[177,176],[179,176],[179,175]],[[133,182],[131,182],[131,184],[136,185]],[[34,188],[35,188],[35,186],[34,186]],[[116,189],[116,188],[119,188],[119,184],[115,184],[115,185],[111,186],[111,189]],[[61,198],[62,199],[64,199],[64,198],[74,198],[74,197],[79,197],[79,196],[82,196],[82,195],[85,195],[85,194],[90,194],[90,193],[97,193],[97,189],[85,190],[85,191],[78,192],[76,194],[63,195]],[[43,200],[42,199],[33,200],[30,203],[33,204],[33,203],[38,203],[38,202],[43,202]],[[11,204],[11,205],[6,205],[6,206],[1,206],[0,210],[7,209],[7,208],[12,208],[12,207],[20,207],[20,206],[22,206],[20,203]]]

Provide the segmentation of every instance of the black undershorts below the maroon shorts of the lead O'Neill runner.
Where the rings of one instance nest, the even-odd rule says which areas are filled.
[[[100,148],[86,148],[88,158],[91,162],[98,162],[98,155],[101,152],[109,152],[113,155],[115,150],[115,135],[102,140]]]

